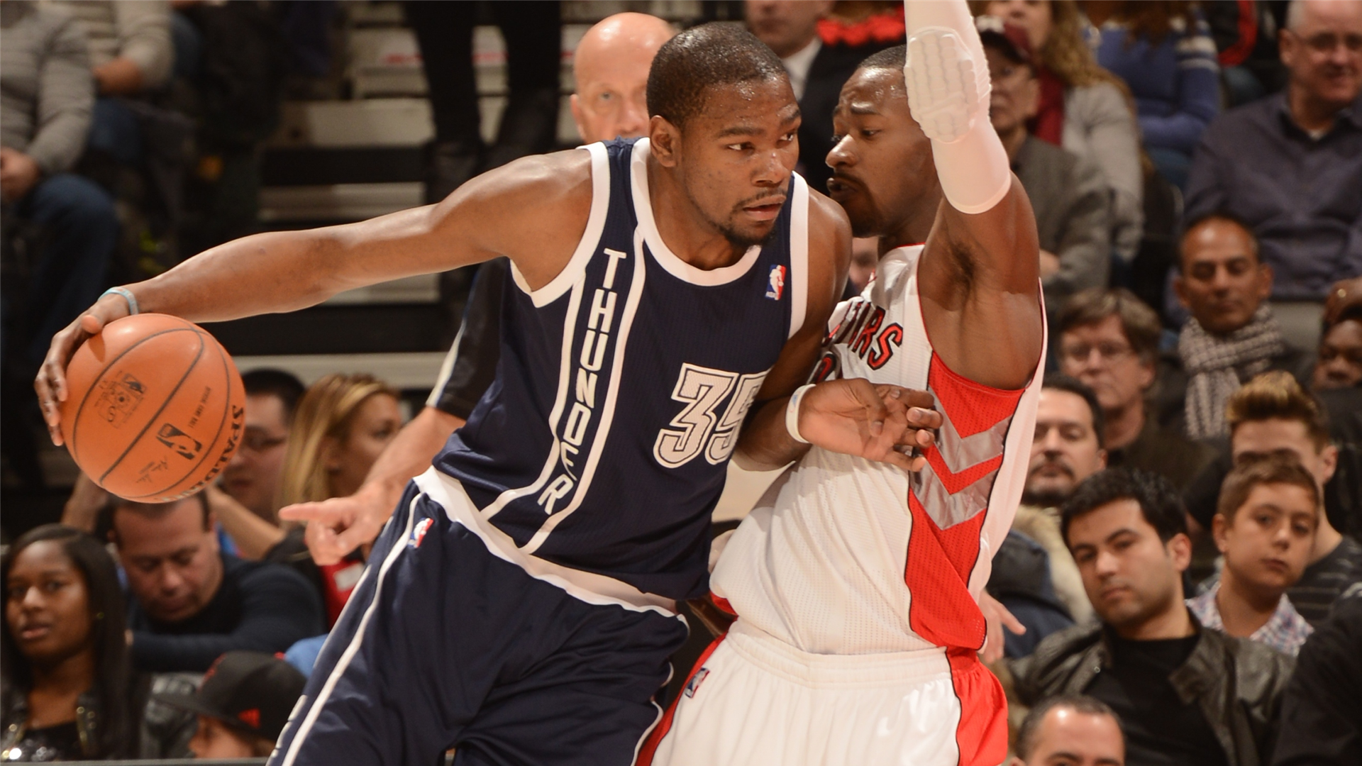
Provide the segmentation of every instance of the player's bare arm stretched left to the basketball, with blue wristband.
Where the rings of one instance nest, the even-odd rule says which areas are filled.
[[[590,210],[586,151],[527,157],[473,179],[439,204],[343,226],[252,234],[124,289],[139,311],[221,322],[296,311],[353,288],[498,255],[538,289],[572,258]],[[71,354],[129,308],[123,296],[105,294],[52,338],[34,387],[53,443],[61,443],[59,402],[67,398]]]

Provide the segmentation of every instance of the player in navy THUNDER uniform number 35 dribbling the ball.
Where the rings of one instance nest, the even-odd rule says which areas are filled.
[[[129,312],[226,320],[511,259],[500,375],[380,534],[275,766],[426,766],[448,747],[460,766],[624,766],[658,721],[686,631],[674,601],[707,589],[729,457],[808,448],[785,412],[850,226],[791,172],[798,105],[749,33],[673,38],[647,101],[647,139],[519,159],[437,206],[227,243],[53,338],[35,386],[60,443],[71,353]],[[899,450],[930,436],[910,421],[940,423],[919,402],[824,386],[801,428],[913,469]]]

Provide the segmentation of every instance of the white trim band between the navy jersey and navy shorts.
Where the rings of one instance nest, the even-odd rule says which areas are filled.
[[[486,523],[485,517],[478,512],[478,507],[473,504],[473,499],[464,492],[463,485],[456,478],[440,473],[434,466],[426,469],[413,481],[422,493],[444,508],[449,521],[460,523],[477,534],[493,556],[520,567],[534,579],[558,587],[568,596],[587,604],[616,605],[632,612],[656,612],[680,619],[676,613],[676,601],[670,598],[644,593],[612,577],[554,564],[516,548],[511,536]]]

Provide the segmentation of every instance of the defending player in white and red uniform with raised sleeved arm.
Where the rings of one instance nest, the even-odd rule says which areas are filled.
[[[838,105],[829,189],[857,236],[880,239],[881,260],[834,312],[814,380],[930,391],[944,424],[929,466],[908,474],[813,447],[778,480],[711,577],[737,620],[640,766],[1007,755],[978,601],[1020,500],[1041,384],[1035,221],[989,123],[964,0],[914,0],[906,19],[907,67],[903,48],[872,56]],[[809,390],[786,413],[795,439],[817,420],[799,406]]]

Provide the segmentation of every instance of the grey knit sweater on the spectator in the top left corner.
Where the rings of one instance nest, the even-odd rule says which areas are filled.
[[[71,14],[0,3],[0,146],[44,173],[65,170],[84,150],[93,105],[90,57]]]

